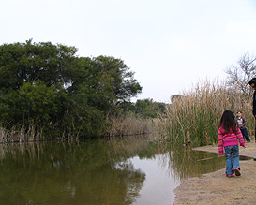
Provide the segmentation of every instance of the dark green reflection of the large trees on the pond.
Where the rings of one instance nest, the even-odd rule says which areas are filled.
[[[2,145],[0,203],[131,204],[145,175],[111,149],[104,140]]]

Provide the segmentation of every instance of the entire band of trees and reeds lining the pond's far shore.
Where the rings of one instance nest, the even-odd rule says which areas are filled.
[[[227,69],[227,81],[203,81],[168,104],[130,102],[142,92],[121,59],[79,57],[51,42],[0,46],[0,141],[86,139],[154,133],[154,139],[193,146],[217,142],[223,110],[242,110],[254,129],[248,54]]]

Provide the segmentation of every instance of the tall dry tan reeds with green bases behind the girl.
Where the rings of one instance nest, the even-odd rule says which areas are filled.
[[[160,139],[199,146],[216,143],[218,124],[224,110],[232,110],[234,114],[242,110],[248,121],[248,131],[252,131],[251,98],[227,89],[224,83],[218,81],[199,83],[167,105],[166,116],[158,118]]]

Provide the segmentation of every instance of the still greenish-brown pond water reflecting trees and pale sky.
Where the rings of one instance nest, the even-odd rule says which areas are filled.
[[[146,137],[0,145],[0,204],[171,205],[182,180],[225,168],[218,154]]]

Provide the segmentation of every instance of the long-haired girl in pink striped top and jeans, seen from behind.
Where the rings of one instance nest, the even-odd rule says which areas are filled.
[[[218,126],[218,154],[223,155],[223,148],[226,155],[226,176],[240,176],[239,147],[246,147],[242,132],[239,129],[232,111],[225,110],[221,116]]]

